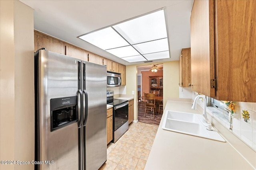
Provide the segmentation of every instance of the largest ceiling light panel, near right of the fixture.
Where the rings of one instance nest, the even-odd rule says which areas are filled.
[[[113,26],[130,44],[167,37],[164,10]]]

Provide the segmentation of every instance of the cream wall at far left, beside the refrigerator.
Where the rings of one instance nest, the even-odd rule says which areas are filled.
[[[34,18],[20,1],[0,0],[1,160],[34,160]],[[34,165],[0,165],[34,169]]]

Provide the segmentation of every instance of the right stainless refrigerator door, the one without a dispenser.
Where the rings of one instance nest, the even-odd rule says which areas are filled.
[[[107,160],[106,66],[82,62],[85,63],[83,90],[88,97],[88,114],[84,123],[84,167],[96,170]]]

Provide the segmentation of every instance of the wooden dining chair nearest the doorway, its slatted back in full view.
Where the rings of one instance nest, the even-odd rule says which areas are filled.
[[[145,113],[144,113],[144,117],[146,117],[146,112],[150,112],[153,113],[153,118],[155,118],[155,110],[156,110],[156,96],[154,94],[151,93],[145,93],[144,94],[145,97]]]

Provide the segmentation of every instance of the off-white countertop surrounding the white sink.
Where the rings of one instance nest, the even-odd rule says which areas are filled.
[[[198,110],[191,109],[191,106],[191,102],[167,101],[164,115],[166,110],[200,113]],[[228,142],[223,143],[163,130],[164,115],[145,170],[254,169]]]

